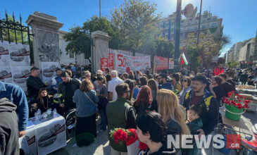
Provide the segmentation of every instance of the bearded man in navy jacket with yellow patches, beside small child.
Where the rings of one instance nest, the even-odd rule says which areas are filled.
[[[206,78],[198,75],[192,79],[192,90],[184,96],[183,106],[188,110],[190,106],[199,107],[201,114],[200,118],[203,122],[203,128],[197,130],[199,136],[210,134],[218,123],[219,104],[213,97],[211,92],[208,92],[206,87]]]

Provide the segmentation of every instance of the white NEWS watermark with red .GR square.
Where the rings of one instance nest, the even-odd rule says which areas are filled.
[[[175,149],[193,149],[194,142],[198,149],[208,149],[211,144],[215,149],[222,149],[225,145],[227,149],[241,149],[240,135],[202,135],[201,138],[199,135],[175,135],[175,140],[173,135],[167,135],[168,149],[171,149],[172,145]]]

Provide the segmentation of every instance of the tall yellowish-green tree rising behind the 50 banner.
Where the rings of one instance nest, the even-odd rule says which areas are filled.
[[[153,51],[149,50],[149,45],[153,44],[157,34],[153,24],[159,18],[155,11],[156,4],[143,0],[128,0],[119,8],[113,9],[111,23],[120,36],[121,49],[143,50],[146,54],[152,54]],[[153,50],[153,46],[151,47]]]

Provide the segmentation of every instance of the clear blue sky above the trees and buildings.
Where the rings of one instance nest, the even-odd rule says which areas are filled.
[[[163,16],[175,12],[177,0],[149,0],[158,5],[157,13]],[[182,0],[182,8],[192,3],[200,7],[201,0]],[[111,9],[120,6],[123,0],[101,0],[101,16],[110,16]],[[0,0],[1,18],[6,10],[9,14],[19,13],[23,21],[33,13],[39,11],[56,16],[58,21],[64,23],[61,30],[68,31],[73,25],[82,23],[99,15],[99,0]],[[225,53],[235,42],[241,42],[250,37],[255,37],[257,29],[257,0],[203,0],[202,11],[211,11],[213,15],[223,18],[223,33],[230,37],[231,43],[222,49]],[[199,11],[199,9],[198,9]]]

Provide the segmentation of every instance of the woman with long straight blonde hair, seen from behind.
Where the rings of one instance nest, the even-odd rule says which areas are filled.
[[[168,126],[168,135],[187,135],[189,128],[185,122],[186,111],[179,105],[177,96],[173,91],[160,89],[157,93],[158,113]]]

